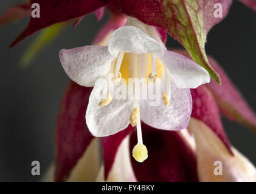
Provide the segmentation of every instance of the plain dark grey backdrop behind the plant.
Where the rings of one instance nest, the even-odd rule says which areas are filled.
[[[0,14],[20,2],[0,1]],[[0,181],[38,181],[40,176],[30,173],[31,162],[40,161],[43,174],[54,160],[55,119],[69,82],[58,52],[91,44],[107,17],[98,24],[94,15],[88,15],[76,28],[68,27],[25,70],[19,68],[19,59],[35,36],[13,49],[7,47],[29,19],[0,27]],[[210,31],[206,51],[223,65],[256,111],[255,21],[255,12],[234,2],[227,18]],[[170,37],[167,45],[181,47]],[[223,123],[232,144],[256,164],[255,133],[227,119]]]

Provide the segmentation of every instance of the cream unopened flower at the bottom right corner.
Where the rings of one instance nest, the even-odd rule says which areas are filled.
[[[255,182],[255,166],[237,149],[226,145],[212,129],[199,119],[191,118],[189,129],[196,141],[198,178],[202,182]]]

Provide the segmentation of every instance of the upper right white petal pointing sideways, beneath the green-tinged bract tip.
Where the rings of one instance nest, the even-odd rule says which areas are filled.
[[[169,70],[172,81],[180,89],[195,89],[201,84],[210,82],[209,73],[183,55],[165,50],[164,55],[159,58]]]

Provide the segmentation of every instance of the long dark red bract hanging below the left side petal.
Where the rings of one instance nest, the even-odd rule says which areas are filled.
[[[64,181],[92,138],[85,112],[92,88],[71,82],[61,101],[57,120],[55,181]]]

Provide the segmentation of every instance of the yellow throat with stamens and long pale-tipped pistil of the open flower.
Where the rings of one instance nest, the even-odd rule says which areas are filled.
[[[165,65],[154,56],[154,54],[137,54],[137,53],[124,53],[120,52],[116,60],[116,65],[112,66],[111,72],[114,73],[114,82],[124,79],[126,84],[130,84],[129,78],[147,79],[147,84],[149,82],[156,82],[156,78],[165,77],[165,85],[167,91],[163,93],[162,99],[165,105],[170,104],[171,96],[171,85],[170,85],[170,75],[165,68]],[[134,93],[139,94],[140,88],[134,87]],[[106,99],[103,99],[99,105],[103,107],[108,105],[112,101],[111,95],[107,95]],[[137,130],[137,140],[138,143],[134,146],[133,157],[138,162],[143,162],[148,158],[147,147],[144,146],[142,141],[142,129],[140,123],[140,105],[139,99],[133,99],[133,111],[130,115],[130,124]]]

